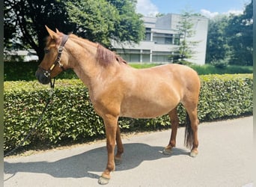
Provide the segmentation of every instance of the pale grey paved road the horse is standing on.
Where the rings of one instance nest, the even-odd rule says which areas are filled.
[[[183,135],[178,129],[172,156],[159,153],[170,130],[124,138],[124,160],[108,186],[252,186],[252,117],[201,123],[196,158]],[[4,187],[100,186],[105,166],[105,142],[5,158]]]

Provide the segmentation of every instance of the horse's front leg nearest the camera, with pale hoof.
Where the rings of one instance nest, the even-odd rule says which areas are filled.
[[[108,163],[106,165],[106,170],[103,171],[98,183],[107,184],[110,180],[111,171],[115,170],[115,160],[114,160],[114,150],[116,133],[118,128],[118,117],[108,116],[104,117],[104,124],[106,128],[106,147],[108,151]]]

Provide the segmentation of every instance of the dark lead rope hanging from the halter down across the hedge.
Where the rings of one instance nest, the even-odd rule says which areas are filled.
[[[13,153],[15,150],[17,150],[19,147],[22,147],[22,145],[25,143],[25,141],[28,140],[28,138],[31,136],[32,133],[34,133],[37,129],[37,127],[39,126],[41,120],[43,119],[43,114],[46,112],[46,108],[48,107],[49,103],[51,102],[52,100],[52,96],[53,96],[53,93],[54,93],[54,85],[55,85],[55,78],[53,79],[53,82],[52,82],[52,79],[51,79],[51,82],[50,82],[50,87],[51,87],[51,90],[49,91],[49,98],[46,102],[46,105],[45,107],[43,108],[43,112],[42,114],[40,115],[40,117],[38,118],[37,120],[37,123],[35,124],[34,128],[31,128],[30,132],[28,133],[28,135],[25,136],[25,138],[13,149],[13,150],[10,150],[9,152],[7,152],[6,154],[4,154],[4,157],[6,156],[10,156],[11,153]]]

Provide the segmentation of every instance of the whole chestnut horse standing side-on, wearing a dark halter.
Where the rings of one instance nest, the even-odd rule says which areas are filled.
[[[186,108],[190,123],[186,126],[186,146],[190,156],[198,154],[198,95],[200,79],[189,67],[165,64],[147,69],[135,69],[120,56],[98,43],[66,35],[47,28],[45,55],[36,72],[42,84],[62,70],[72,69],[88,87],[94,110],[103,117],[106,128],[108,162],[99,179],[100,184],[109,183],[115,164],[121,162],[124,147],[121,141],[118,117],[153,118],[168,114],[171,118],[171,138],[163,153],[171,154],[175,147],[177,105]],[[117,153],[114,155],[115,142]]]

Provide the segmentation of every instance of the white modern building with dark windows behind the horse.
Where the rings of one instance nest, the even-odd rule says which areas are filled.
[[[177,25],[181,16],[170,13],[161,17],[143,17],[146,28],[145,39],[139,44],[112,43],[118,55],[128,62],[141,63],[171,63],[170,55],[180,43]],[[188,38],[197,41],[193,48],[195,55],[189,61],[194,64],[205,64],[207,47],[208,19],[192,16],[195,35]]]

